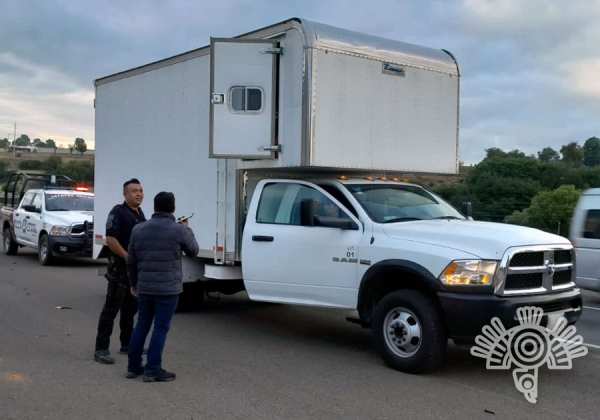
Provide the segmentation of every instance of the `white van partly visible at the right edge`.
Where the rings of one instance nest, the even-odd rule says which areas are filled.
[[[600,292],[600,188],[581,195],[569,231],[575,247],[577,285]]]

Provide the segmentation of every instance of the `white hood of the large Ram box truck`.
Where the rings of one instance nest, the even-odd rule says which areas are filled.
[[[562,236],[538,229],[473,220],[418,220],[383,225],[390,238],[456,249],[498,260],[515,246],[570,245]]]

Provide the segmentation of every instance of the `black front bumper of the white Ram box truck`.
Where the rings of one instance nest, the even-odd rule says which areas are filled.
[[[529,296],[496,296],[439,292],[438,298],[447,322],[448,333],[455,343],[473,343],[492,318],[497,317],[507,330],[519,325],[517,309],[537,306],[544,310],[541,325],[547,326],[548,315],[564,317],[569,325],[581,316],[583,302],[578,288],[564,292]]]

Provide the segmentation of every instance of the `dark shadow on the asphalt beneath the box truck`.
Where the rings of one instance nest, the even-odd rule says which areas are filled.
[[[208,323],[211,329],[222,329],[224,334],[238,331],[242,340],[260,342],[271,341],[277,337],[278,340],[284,340],[287,346],[304,349],[306,352],[314,351],[314,348],[318,347],[319,351],[325,353],[342,352],[346,353],[346,356],[358,354],[361,358],[366,356],[362,360],[363,363],[384,367],[376,352],[370,329],[351,324],[343,315],[323,309],[253,302],[245,293],[240,293],[225,296],[220,301],[205,298],[200,310],[176,316],[191,317],[195,325]],[[247,338],[249,335],[251,337]],[[469,346],[457,346],[449,340],[443,365],[428,375],[456,378],[456,375],[460,374],[472,375],[475,378],[484,371],[485,360],[471,355]],[[509,381],[512,380],[508,371],[489,371],[486,376],[507,376]]]

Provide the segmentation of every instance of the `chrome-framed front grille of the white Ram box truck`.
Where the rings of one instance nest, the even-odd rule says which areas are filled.
[[[574,251],[570,245],[512,248],[500,263],[495,293],[539,294],[575,286]]]

